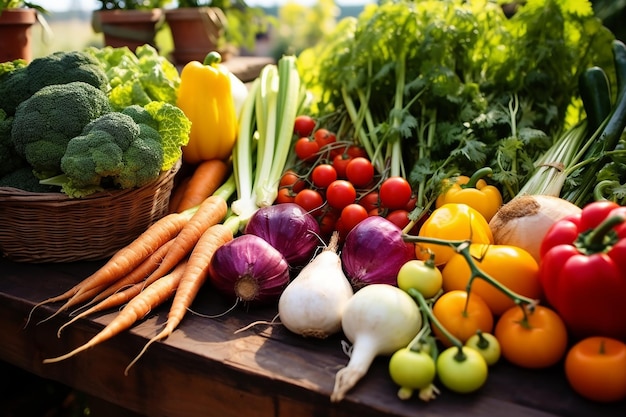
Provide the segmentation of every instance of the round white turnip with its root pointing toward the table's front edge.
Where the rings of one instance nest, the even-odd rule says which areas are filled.
[[[370,284],[346,303],[341,319],[352,343],[350,360],[337,372],[331,401],[341,401],[367,373],[374,358],[392,355],[406,347],[422,327],[422,316],[413,299],[389,284]]]

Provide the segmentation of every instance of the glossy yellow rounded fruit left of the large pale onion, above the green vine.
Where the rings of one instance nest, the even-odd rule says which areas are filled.
[[[493,234],[485,217],[467,204],[446,203],[433,210],[420,227],[419,236],[443,240],[468,240],[472,243],[493,243]],[[447,245],[417,243],[415,255],[428,259],[435,255],[436,265],[444,265],[456,252]]]

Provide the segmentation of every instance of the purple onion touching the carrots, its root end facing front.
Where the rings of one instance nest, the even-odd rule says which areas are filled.
[[[289,283],[289,264],[265,240],[241,235],[215,251],[209,281],[225,295],[262,304],[278,300]]]

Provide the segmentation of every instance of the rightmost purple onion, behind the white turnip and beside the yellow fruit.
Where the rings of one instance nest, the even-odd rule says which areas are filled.
[[[369,284],[397,286],[398,271],[413,255],[402,230],[380,216],[358,223],[346,236],[341,261],[356,288]]]

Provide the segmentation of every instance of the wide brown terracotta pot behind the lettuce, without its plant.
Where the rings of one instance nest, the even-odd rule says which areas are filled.
[[[162,19],[161,9],[96,10],[93,12],[92,26],[96,33],[104,34],[106,46],[127,46],[134,51],[145,44],[156,48],[154,38]]]

